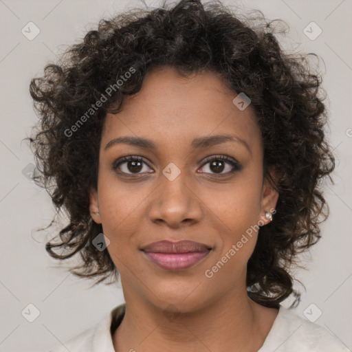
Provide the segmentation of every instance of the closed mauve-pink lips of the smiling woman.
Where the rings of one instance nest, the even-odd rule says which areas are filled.
[[[155,265],[168,271],[185,270],[204,259],[212,248],[194,241],[159,241],[142,249]]]

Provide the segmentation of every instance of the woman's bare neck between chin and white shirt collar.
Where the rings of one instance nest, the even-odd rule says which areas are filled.
[[[258,351],[278,309],[258,305],[243,293],[230,292],[190,312],[173,305],[162,311],[126,295],[126,312],[113,334],[115,351]]]

